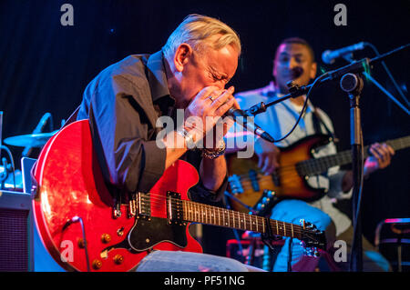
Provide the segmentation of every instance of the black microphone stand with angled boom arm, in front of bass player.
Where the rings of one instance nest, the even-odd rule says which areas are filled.
[[[339,81],[343,92],[347,93],[350,100],[350,131],[351,131],[351,149],[352,149],[352,166],[354,175],[353,185],[353,222],[354,222],[354,239],[352,245],[352,260],[350,270],[354,272],[363,271],[363,246],[362,246],[362,225],[360,215],[361,189],[363,186],[363,161],[362,161],[362,126],[361,126],[361,112],[360,112],[360,94],[364,87],[362,73],[369,70],[371,65],[381,62],[385,58],[394,55],[395,53],[410,47],[410,44],[400,46],[384,55],[378,55],[373,59],[364,58],[359,61],[354,61],[350,65],[345,65],[341,68],[320,75],[313,85],[323,84],[328,81]],[[257,115],[266,111],[271,105],[278,104],[291,97],[308,94],[313,88],[313,85],[293,85],[292,82],[288,84],[289,94],[274,100],[268,104],[261,102],[260,104],[251,106],[245,110],[247,114]],[[406,112],[408,114],[408,110]]]

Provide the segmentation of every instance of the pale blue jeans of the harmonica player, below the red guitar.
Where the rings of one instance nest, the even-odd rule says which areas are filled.
[[[252,272],[261,269],[218,255],[181,251],[153,251],[138,264],[137,272]]]

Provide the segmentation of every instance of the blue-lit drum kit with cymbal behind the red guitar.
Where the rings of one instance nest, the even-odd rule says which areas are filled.
[[[36,128],[37,129],[37,128]],[[50,139],[53,135],[55,135],[58,130],[48,133],[35,133],[35,130],[32,134],[27,135],[15,135],[3,140],[3,143],[6,145],[12,145],[17,147],[23,147],[25,150],[23,151],[23,157],[27,156],[32,148],[42,148],[46,145],[48,139]],[[1,131],[0,131],[1,134]],[[0,135],[1,137],[1,135]],[[1,139],[0,139],[1,141]],[[1,144],[1,142],[0,142]],[[11,154],[10,150],[5,146],[2,145],[0,149],[1,151],[5,151],[10,159],[10,163],[8,164],[6,158],[2,158],[2,162],[0,165],[0,189],[7,189],[7,190],[15,190],[15,191],[22,191],[23,190],[23,176],[21,170],[15,169],[13,155]]]

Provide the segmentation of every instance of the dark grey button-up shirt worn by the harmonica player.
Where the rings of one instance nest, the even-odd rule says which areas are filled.
[[[163,175],[166,148],[159,147],[156,127],[160,115],[175,104],[169,93],[162,52],[129,55],[94,78],[83,95],[77,120],[88,119],[103,175],[126,192],[148,192]],[[181,157],[200,166],[200,154]],[[194,200],[218,201],[227,182],[216,193],[200,183],[190,189]]]

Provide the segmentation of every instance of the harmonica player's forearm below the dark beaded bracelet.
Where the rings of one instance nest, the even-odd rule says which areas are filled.
[[[217,191],[222,185],[227,172],[224,155],[215,159],[203,158],[200,163],[200,179],[202,184],[211,191]]]

